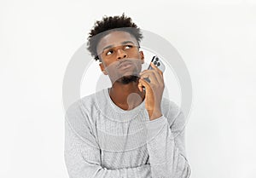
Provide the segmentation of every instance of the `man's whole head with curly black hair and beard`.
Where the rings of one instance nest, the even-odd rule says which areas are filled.
[[[124,14],[105,17],[91,30],[88,49],[101,61],[102,72],[112,82],[122,78],[123,83],[130,83],[137,79],[144,62],[143,51],[139,51],[142,37],[140,29]]]

